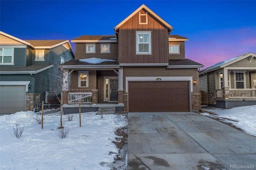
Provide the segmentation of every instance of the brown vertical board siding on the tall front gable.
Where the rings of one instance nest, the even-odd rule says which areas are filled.
[[[151,31],[151,55],[136,55],[136,31]],[[119,28],[119,63],[168,63],[168,28],[148,13],[139,24],[139,12]]]

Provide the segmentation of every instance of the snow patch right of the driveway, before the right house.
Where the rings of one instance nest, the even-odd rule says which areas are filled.
[[[201,115],[218,117],[221,121],[232,123],[244,132],[256,136],[256,105],[234,107],[232,109],[208,108],[204,106],[201,108],[206,112],[209,111],[216,114],[202,113]]]

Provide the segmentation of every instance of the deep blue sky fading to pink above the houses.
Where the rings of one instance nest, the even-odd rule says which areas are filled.
[[[189,39],[186,58],[204,68],[256,53],[255,0],[1,0],[0,30],[22,40],[114,35],[113,28],[142,4],[174,27],[171,34]]]

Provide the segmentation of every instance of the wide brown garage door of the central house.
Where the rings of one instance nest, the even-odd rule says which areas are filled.
[[[188,81],[130,81],[129,112],[190,111]]]

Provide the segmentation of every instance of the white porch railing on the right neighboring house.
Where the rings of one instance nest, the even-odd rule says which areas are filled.
[[[229,98],[256,98],[256,89],[228,89]]]

